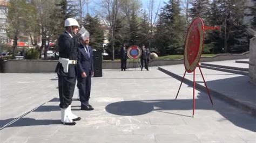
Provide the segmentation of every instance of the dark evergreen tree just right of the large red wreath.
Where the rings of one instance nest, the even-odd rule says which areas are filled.
[[[213,1],[210,25],[221,26],[221,31],[208,32],[208,43],[214,42],[214,52],[231,52],[231,47],[248,45],[246,25],[243,24],[245,1]],[[244,48],[244,47],[241,47]],[[248,49],[248,47],[247,47]]]

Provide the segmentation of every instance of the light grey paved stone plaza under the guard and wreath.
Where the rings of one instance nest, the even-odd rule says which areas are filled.
[[[178,73],[182,76],[185,69],[181,67],[184,66],[166,68],[180,70]],[[214,95],[212,106],[208,95],[196,90],[196,113],[192,118],[191,85],[183,84],[175,100],[180,81],[157,68],[150,67],[150,71],[140,71],[139,68],[103,70],[103,77],[92,78],[90,103],[95,110],[80,111],[75,91],[72,110],[82,117],[75,126],[60,124],[55,73],[0,74],[0,140],[256,142],[255,116]],[[213,81],[218,74],[222,75],[221,78],[231,76],[220,71],[209,76],[208,69],[202,70],[206,81]],[[213,82],[209,84],[217,86]],[[252,103],[255,104],[255,100]]]

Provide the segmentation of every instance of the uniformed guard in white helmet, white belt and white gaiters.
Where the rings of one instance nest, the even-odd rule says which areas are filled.
[[[66,31],[59,36],[59,62],[55,72],[58,75],[59,107],[64,125],[76,125],[80,117],[71,112],[71,102],[76,84],[76,62],[78,47],[78,22],[76,19],[65,20]]]

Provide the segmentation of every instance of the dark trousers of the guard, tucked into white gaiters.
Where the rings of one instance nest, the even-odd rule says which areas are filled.
[[[60,108],[68,108],[71,105],[75,85],[76,77],[67,77],[58,74]]]

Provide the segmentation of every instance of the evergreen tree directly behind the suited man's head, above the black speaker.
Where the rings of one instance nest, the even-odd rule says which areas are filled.
[[[104,30],[100,25],[98,17],[91,17],[89,14],[87,14],[83,20],[83,26],[90,33],[90,45],[94,49],[102,50]]]

